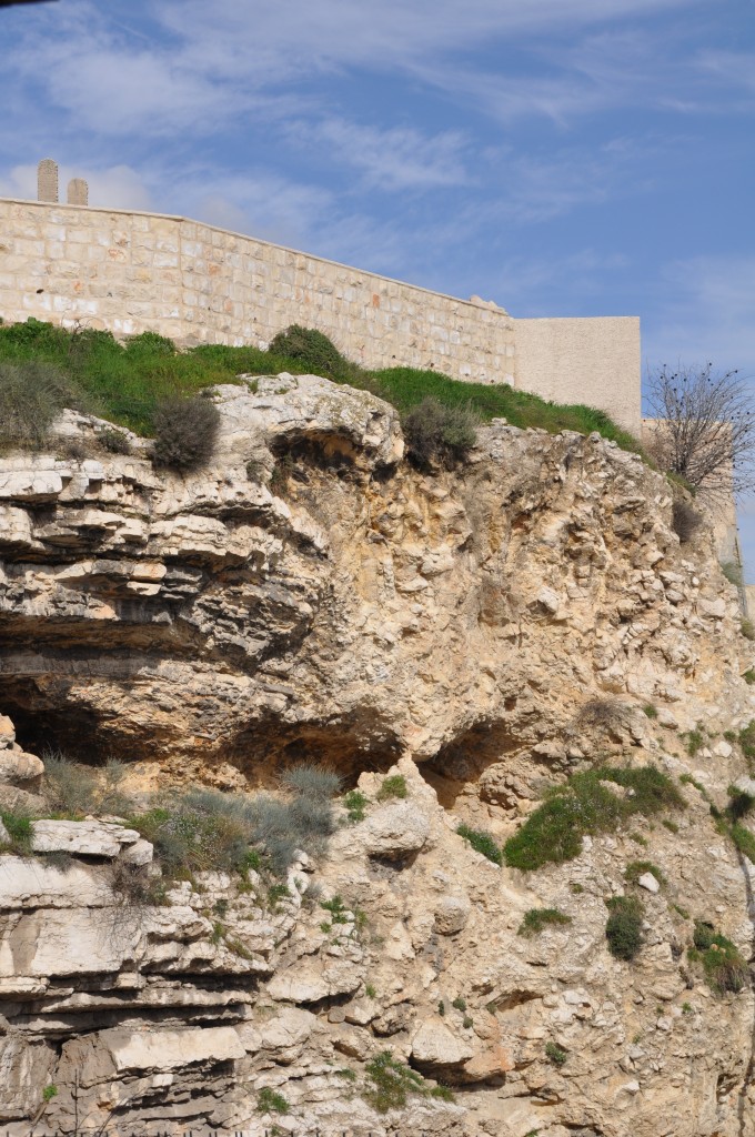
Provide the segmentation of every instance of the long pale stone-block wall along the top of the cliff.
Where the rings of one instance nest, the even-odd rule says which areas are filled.
[[[0,200],[0,316],[81,322],[117,335],[151,330],[184,346],[266,345],[300,323],[367,367],[511,383],[591,402],[639,429],[637,319],[515,321],[476,298],[183,217]]]

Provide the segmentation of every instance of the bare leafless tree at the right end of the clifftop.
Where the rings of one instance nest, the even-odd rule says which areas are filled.
[[[712,499],[755,489],[755,400],[737,375],[664,363],[648,376],[654,456]]]

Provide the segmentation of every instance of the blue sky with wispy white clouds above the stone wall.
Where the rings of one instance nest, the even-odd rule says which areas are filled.
[[[57,0],[0,44],[0,196],[51,157],[92,205],[639,315],[646,370],[755,397],[755,0]]]

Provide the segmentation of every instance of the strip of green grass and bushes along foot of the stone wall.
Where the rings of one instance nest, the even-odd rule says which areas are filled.
[[[269,375],[288,371],[313,372],[337,383],[366,389],[408,416],[424,400],[432,399],[453,412],[451,447],[462,445],[474,420],[507,418],[514,426],[537,428],[549,433],[573,430],[581,434],[598,431],[623,449],[639,449],[638,442],[606,414],[581,405],[547,402],[536,395],[515,391],[508,384],[463,383],[434,371],[390,367],[367,371],[347,359],[321,332],[293,325],[275,337],[269,350],[254,347],[205,345],[179,351],[163,335],[143,332],[119,343],[110,332],[94,329],[73,331],[28,319],[0,326],[0,405],[3,392],[31,365],[43,365],[55,376],[48,409],[34,412],[43,428],[50,412],[63,401],[91,410],[139,434],[155,431],[157,408],[166,399],[189,397],[216,383],[234,383],[239,374]],[[9,368],[13,368],[13,373]],[[10,377],[9,377],[10,376]],[[58,389],[60,393],[58,393]],[[65,396],[64,396],[65,392]],[[5,417],[5,416],[3,416]],[[32,441],[36,430],[32,431]],[[448,431],[447,431],[448,433]],[[19,439],[27,445],[26,433]],[[0,437],[0,445],[14,438]]]

